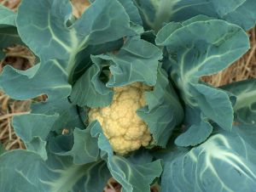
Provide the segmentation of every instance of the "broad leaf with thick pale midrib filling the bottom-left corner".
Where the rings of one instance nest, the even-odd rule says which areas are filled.
[[[0,161],[1,191],[99,192],[110,178],[104,161],[78,166],[70,157],[49,154],[44,161],[26,150],[9,151]]]

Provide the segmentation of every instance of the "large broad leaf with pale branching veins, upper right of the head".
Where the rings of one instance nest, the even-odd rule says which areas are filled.
[[[217,73],[238,59],[249,48],[248,38],[237,25],[223,20],[196,19],[200,21],[166,25],[156,42],[166,46],[167,65],[185,103],[192,108],[199,107],[203,116],[230,130],[233,110],[229,95],[199,83],[199,78]],[[172,30],[168,36],[169,29]]]

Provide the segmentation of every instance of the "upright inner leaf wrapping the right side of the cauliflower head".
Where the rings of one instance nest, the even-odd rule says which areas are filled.
[[[183,108],[161,67],[154,90],[146,93],[146,101],[148,105],[137,110],[137,115],[147,123],[156,144],[165,147],[173,128],[183,120]]]

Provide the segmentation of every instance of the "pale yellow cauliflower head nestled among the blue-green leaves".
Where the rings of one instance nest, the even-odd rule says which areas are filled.
[[[141,82],[113,88],[110,105],[89,110],[89,122],[100,122],[113,151],[119,155],[148,146],[152,140],[147,124],[136,113],[146,105],[144,93],[149,90],[151,88]]]

